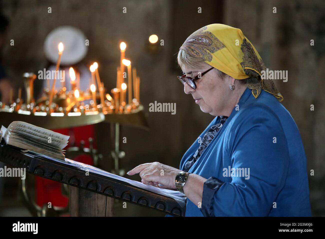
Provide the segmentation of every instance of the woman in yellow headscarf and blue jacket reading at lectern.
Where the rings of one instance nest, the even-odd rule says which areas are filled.
[[[184,191],[185,216],[311,216],[298,128],[274,83],[261,79],[265,65],[241,30],[205,26],[187,38],[177,60],[184,92],[216,117],[180,169],[154,162],[128,175]]]

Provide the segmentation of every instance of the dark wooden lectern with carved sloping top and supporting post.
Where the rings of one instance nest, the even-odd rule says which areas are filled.
[[[185,205],[174,198],[138,188],[117,179],[85,171],[50,159],[21,152],[0,143],[0,161],[26,172],[70,185],[71,216],[113,216],[114,198],[150,207],[173,216],[185,216]]]

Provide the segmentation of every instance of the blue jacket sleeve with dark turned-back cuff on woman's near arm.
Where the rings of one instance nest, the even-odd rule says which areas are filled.
[[[279,118],[265,105],[237,114],[225,136],[225,150],[232,168],[248,174],[231,175],[231,182],[224,183],[208,179],[202,194],[204,216],[267,216],[284,186],[289,153]]]

